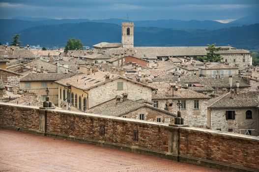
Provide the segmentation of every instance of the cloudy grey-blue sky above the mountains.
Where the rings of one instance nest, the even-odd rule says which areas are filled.
[[[259,0],[0,0],[0,18],[217,20],[254,14]]]

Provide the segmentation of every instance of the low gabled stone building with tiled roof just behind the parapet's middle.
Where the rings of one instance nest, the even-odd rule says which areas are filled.
[[[119,116],[131,119],[142,119],[155,122],[173,123],[175,114],[158,109],[152,102],[144,103],[141,100],[134,101],[127,98],[127,94],[116,95],[115,98],[96,105],[87,113]]]

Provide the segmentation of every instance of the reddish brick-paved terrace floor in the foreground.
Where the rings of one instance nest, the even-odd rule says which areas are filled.
[[[219,172],[101,146],[0,129],[0,172]]]

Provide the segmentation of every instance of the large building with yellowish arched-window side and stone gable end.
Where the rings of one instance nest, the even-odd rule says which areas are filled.
[[[66,101],[80,111],[86,111],[122,93],[127,93],[131,100],[151,101],[152,90],[156,89],[124,76],[102,71],[89,75],[78,74],[56,83],[59,89],[58,105]]]

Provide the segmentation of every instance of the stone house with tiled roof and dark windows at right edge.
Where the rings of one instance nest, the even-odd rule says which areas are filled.
[[[259,92],[234,93],[232,89],[209,100],[208,125],[214,130],[259,135]]]

